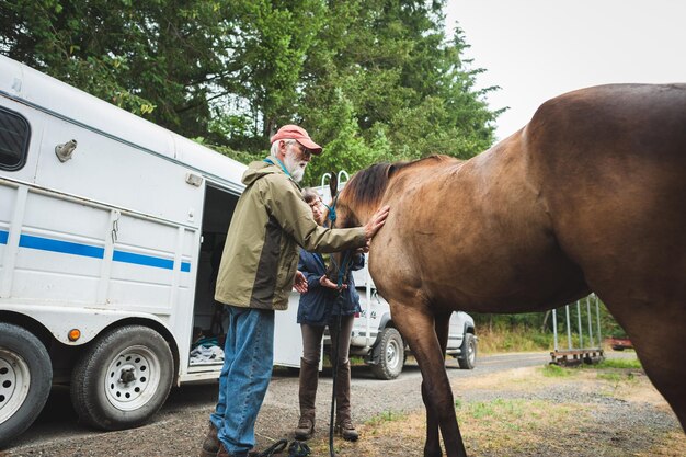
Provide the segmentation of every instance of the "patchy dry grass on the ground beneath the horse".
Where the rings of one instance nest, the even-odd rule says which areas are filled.
[[[597,392],[666,409],[637,358],[606,359],[583,368],[546,365],[518,368],[470,380],[460,380],[455,410],[467,454],[480,456],[558,455],[587,456],[597,449],[605,457],[684,457],[686,435],[674,429],[655,430],[641,421],[598,421],[604,405],[597,402],[530,399],[551,386],[571,386],[580,392]],[[491,391],[493,398],[467,400],[466,392]],[[501,397],[499,392],[503,392]],[[416,395],[420,395],[419,391]],[[472,397],[473,398],[473,397]],[[477,396],[479,398],[479,396]],[[340,457],[407,457],[423,454],[426,433],[424,411],[385,411],[358,426],[357,443],[335,441]],[[582,438],[583,437],[583,438]],[[328,439],[311,443],[313,456],[328,456]]]

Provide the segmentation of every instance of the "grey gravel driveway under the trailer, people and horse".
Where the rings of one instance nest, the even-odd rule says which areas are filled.
[[[545,354],[517,354],[481,356],[473,370],[457,368],[454,361],[448,363],[448,375],[455,387],[456,398],[462,402],[488,401],[493,398],[529,398],[550,401],[597,402],[606,408],[598,409],[598,430],[616,431],[631,430],[648,426],[655,431],[678,430],[674,414],[665,408],[655,408],[651,404],[620,401],[593,391],[581,391],[569,384],[553,386],[542,390],[523,392],[521,389],[508,391],[501,387],[479,388],[479,380],[488,376],[493,378],[498,374],[511,373],[513,368],[527,366],[542,366],[548,362]],[[401,376],[392,381],[374,379],[367,367],[353,368],[353,415],[358,424],[382,413],[412,413],[421,411],[423,403],[420,395],[421,375],[416,365],[405,367]],[[261,410],[256,425],[258,448],[265,448],[279,438],[293,439],[293,429],[298,419],[297,409],[297,373],[286,369],[275,370],[274,378]],[[469,386],[464,390],[460,386]],[[146,426],[121,432],[95,432],[82,427],[76,422],[76,416],[69,403],[66,389],[56,389],[36,424],[28,432],[12,444],[12,447],[0,452],[0,457],[19,456],[196,456],[198,446],[206,432],[207,418],[213,411],[216,397],[216,384],[185,386],[172,390],[163,410]],[[317,438],[325,439],[328,433],[328,418],[331,396],[331,378],[329,373],[322,374],[318,401]],[[620,424],[620,425],[618,425]],[[364,439],[364,435],[363,435]],[[554,437],[551,437],[554,439]],[[640,436],[633,437],[628,449],[634,449],[641,442]],[[418,447],[419,446],[419,447]],[[421,443],[414,446],[416,450],[403,455],[421,456]],[[679,450],[681,453],[682,450]],[[489,456],[487,452],[471,455]],[[282,454],[283,455],[283,454]],[[328,455],[328,454],[325,454]],[[353,456],[343,453],[342,456]],[[548,454],[530,454],[545,456]],[[560,454],[559,456],[588,456],[595,457],[597,449]],[[615,454],[607,454],[615,455]],[[621,454],[619,454],[621,455]],[[625,454],[638,455],[638,454]],[[672,454],[664,454],[672,455]],[[673,454],[682,457],[686,454]]]

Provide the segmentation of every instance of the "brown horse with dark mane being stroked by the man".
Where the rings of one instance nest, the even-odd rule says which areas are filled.
[[[583,89],[467,161],[358,172],[336,227],[390,205],[369,269],[422,372],[424,456],[466,456],[444,367],[454,310],[542,311],[595,292],[686,425],[686,84]]]

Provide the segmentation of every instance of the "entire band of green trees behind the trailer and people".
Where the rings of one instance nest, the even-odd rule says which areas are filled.
[[[306,127],[322,172],[493,141],[444,1],[0,1],[0,53],[247,162]]]

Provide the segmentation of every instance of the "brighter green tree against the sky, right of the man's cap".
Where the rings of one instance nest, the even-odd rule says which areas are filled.
[[[500,112],[482,99],[496,88],[473,90],[482,70],[461,60],[461,32],[446,42],[442,5],[329,3],[302,92],[304,124],[327,152],[312,161],[307,184],[324,171],[433,153],[469,158],[492,144]]]

